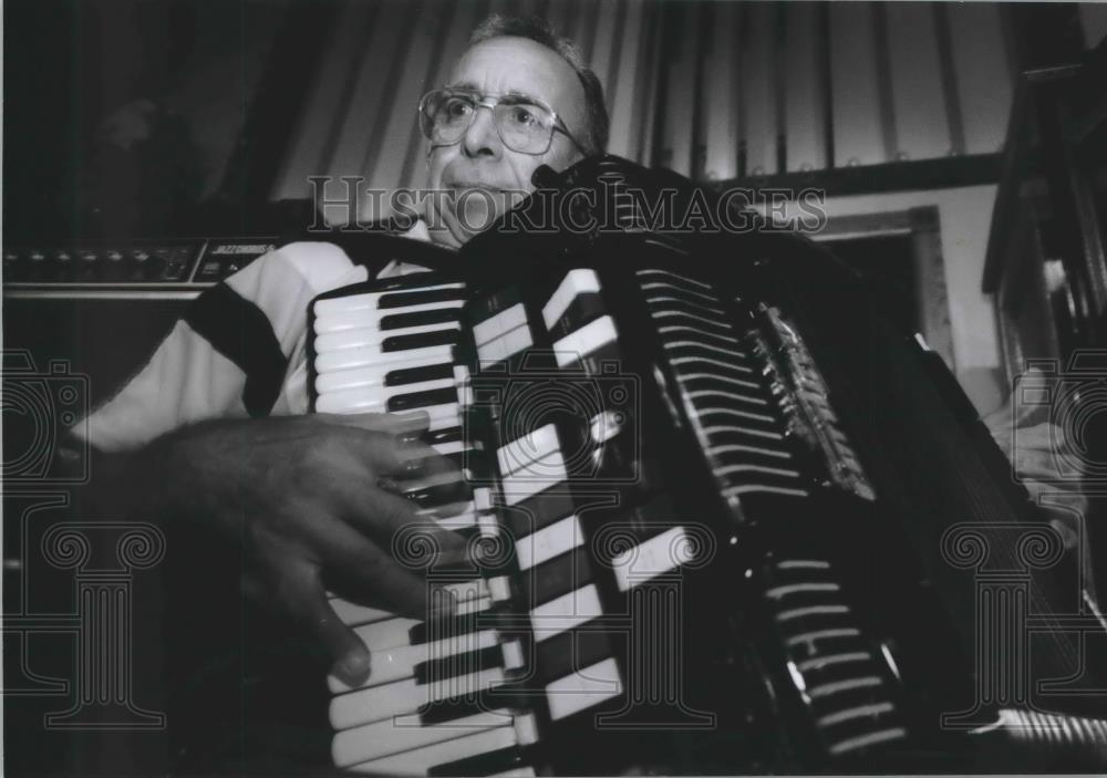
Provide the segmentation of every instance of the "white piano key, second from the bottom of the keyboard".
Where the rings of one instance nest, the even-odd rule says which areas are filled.
[[[335,767],[350,767],[359,761],[424,748],[510,723],[508,710],[478,713],[438,726],[424,726],[417,716],[375,722],[338,733],[331,743],[331,757]]]

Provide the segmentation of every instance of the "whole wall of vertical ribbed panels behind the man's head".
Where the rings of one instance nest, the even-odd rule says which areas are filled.
[[[415,103],[492,11],[545,14],[576,39],[604,86],[611,153],[712,180],[784,172],[782,137],[790,172],[941,157],[962,136],[964,153],[993,153],[1004,138],[1012,77],[990,3],[425,2],[343,3],[275,198],[309,195],[310,175],[422,185]],[[1080,13],[1089,35],[1107,24]]]

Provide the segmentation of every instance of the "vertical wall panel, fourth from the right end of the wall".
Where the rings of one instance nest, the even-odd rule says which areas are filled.
[[[816,3],[785,7],[785,139],[788,170],[827,167],[821,45]]]

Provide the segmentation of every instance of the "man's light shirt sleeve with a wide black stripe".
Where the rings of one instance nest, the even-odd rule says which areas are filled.
[[[197,298],[149,362],[74,432],[118,452],[205,419],[304,412],[308,303],[366,278],[331,243],[270,251]]]

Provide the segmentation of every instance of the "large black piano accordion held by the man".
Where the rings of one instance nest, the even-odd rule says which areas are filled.
[[[584,228],[508,219],[311,304],[313,409],[422,409],[464,478],[445,517],[422,485],[393,548],[448,618],[333,601],[374,656],[330,680],[335,766],[1100,764],[1101,620],[941,360],[811,243],[651,229],[641,195],[680,207],[683,179],[608,157],[542,184],[602,189],[615,228],[536,194],[521,216]]]

